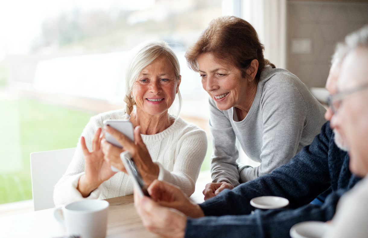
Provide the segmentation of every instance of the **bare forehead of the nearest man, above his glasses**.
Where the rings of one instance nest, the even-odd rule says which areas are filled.
[[[368,48],[357,48],[349,52],[342,62],[337,87],[349,90],[368,83]]]

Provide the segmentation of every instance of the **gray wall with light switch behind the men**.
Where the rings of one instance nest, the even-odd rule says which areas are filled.
[[[335,45],[368,23],[368,3],[287,2],[287,70],[307,87],[325,87]]]

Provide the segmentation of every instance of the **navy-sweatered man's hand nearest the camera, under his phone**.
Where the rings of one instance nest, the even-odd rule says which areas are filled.
[[[135,189],[134,206],[149,231],[163,237],[184,237],[187,217],[180,211],[160,206],[149,197],[139,197]]]

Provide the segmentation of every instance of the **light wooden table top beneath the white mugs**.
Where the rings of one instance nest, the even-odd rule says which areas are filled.
[[[203,202],[204,186],[204,182],[196,184],[190,197],[193,202]],[[134,208],[133,195],[105,200],[110,203],[106,238],[159,237],[143,226]],[[54,218],[53,208],[0,218],[0,238],[59,238],[65,235],[63,225]]]

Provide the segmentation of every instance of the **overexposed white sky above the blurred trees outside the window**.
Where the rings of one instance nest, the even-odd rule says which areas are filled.
[[[0,0],[0,61],[8,54],[27,54],[42,22],[63,11],[143,10],[155,0]]]

